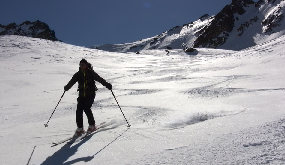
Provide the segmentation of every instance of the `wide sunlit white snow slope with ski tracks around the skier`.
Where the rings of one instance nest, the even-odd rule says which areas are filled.
[[[284,164],[285,36],[230,51],[199,48],[122,54],[0,36],[0,164]],[[98,130],[70,145],[81,58],[97,83]],[[88,126],[84,115],[85,128]]]

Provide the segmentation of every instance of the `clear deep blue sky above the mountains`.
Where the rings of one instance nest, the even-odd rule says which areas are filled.
[[[232,0],[9,0],[0,24],[40,20],[58,39],[77,46],[121,44],[216,15]]]

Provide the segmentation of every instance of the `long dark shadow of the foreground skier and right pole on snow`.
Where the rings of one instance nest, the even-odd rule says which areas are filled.
[[[102,130],[100,130],[98,132],[101,132],[101,131],[104,131],[104,130],[107,130],[107,129],[102,129]],[[128,129],[126,131],[128,131]],[[124,131],[122,134],[124,134],[126,131]],[[49,156],[48,158],[46,158],[46,160],[41,165],[50,165],[50,164],[55,164],[55,165],[56,164],[72,165],[72,164],[75,164],[75,163],[80,162],[80,161],[84,161],[84,162],[91,161],[93,158],[95,158],[95,155],[97,155],[99,152],[101,152],[103,149],[105,149],[107,146],[109,146],[115,140],[117,140],[120,136],[122,136],[122,134],[120,134],[115,140],[110,142],[107,146],[105,146],[104,148],[99,150],[93,156],[77,158],[77,159],[74,159],[72,161],[65,162],[65,161],[68,160],[68,158],[70,158],[71,156],[75,155],[75,153],[78,151],[78,148],[82,144],[84,144],[88,139],[90,139],[94,134],[95,133],[90,134],[88,137],[84,138],[78,144],[76,144],[76,145],[74,145],[72,147],[70,147],[71,144],[66,143],[64,146],[61,147],[61,149],[59,149],[57,152],[55,152],[52,156]]]

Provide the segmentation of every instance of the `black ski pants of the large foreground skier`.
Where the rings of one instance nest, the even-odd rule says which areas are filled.
[[[95,95],[77,98],[76,124],[78,128],[83,127],[83,111],[87,116],[89,125],[95,124],[94,116],[91,110],[94,99]]]

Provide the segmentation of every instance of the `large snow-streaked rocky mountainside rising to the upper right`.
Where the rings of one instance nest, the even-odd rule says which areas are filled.
[[[135,52],[152,49],[219,48],[242,50],[285,33],[284,0],[232,0],[215,16],[176,26],[133,43],[103,44],[93,49]]]

